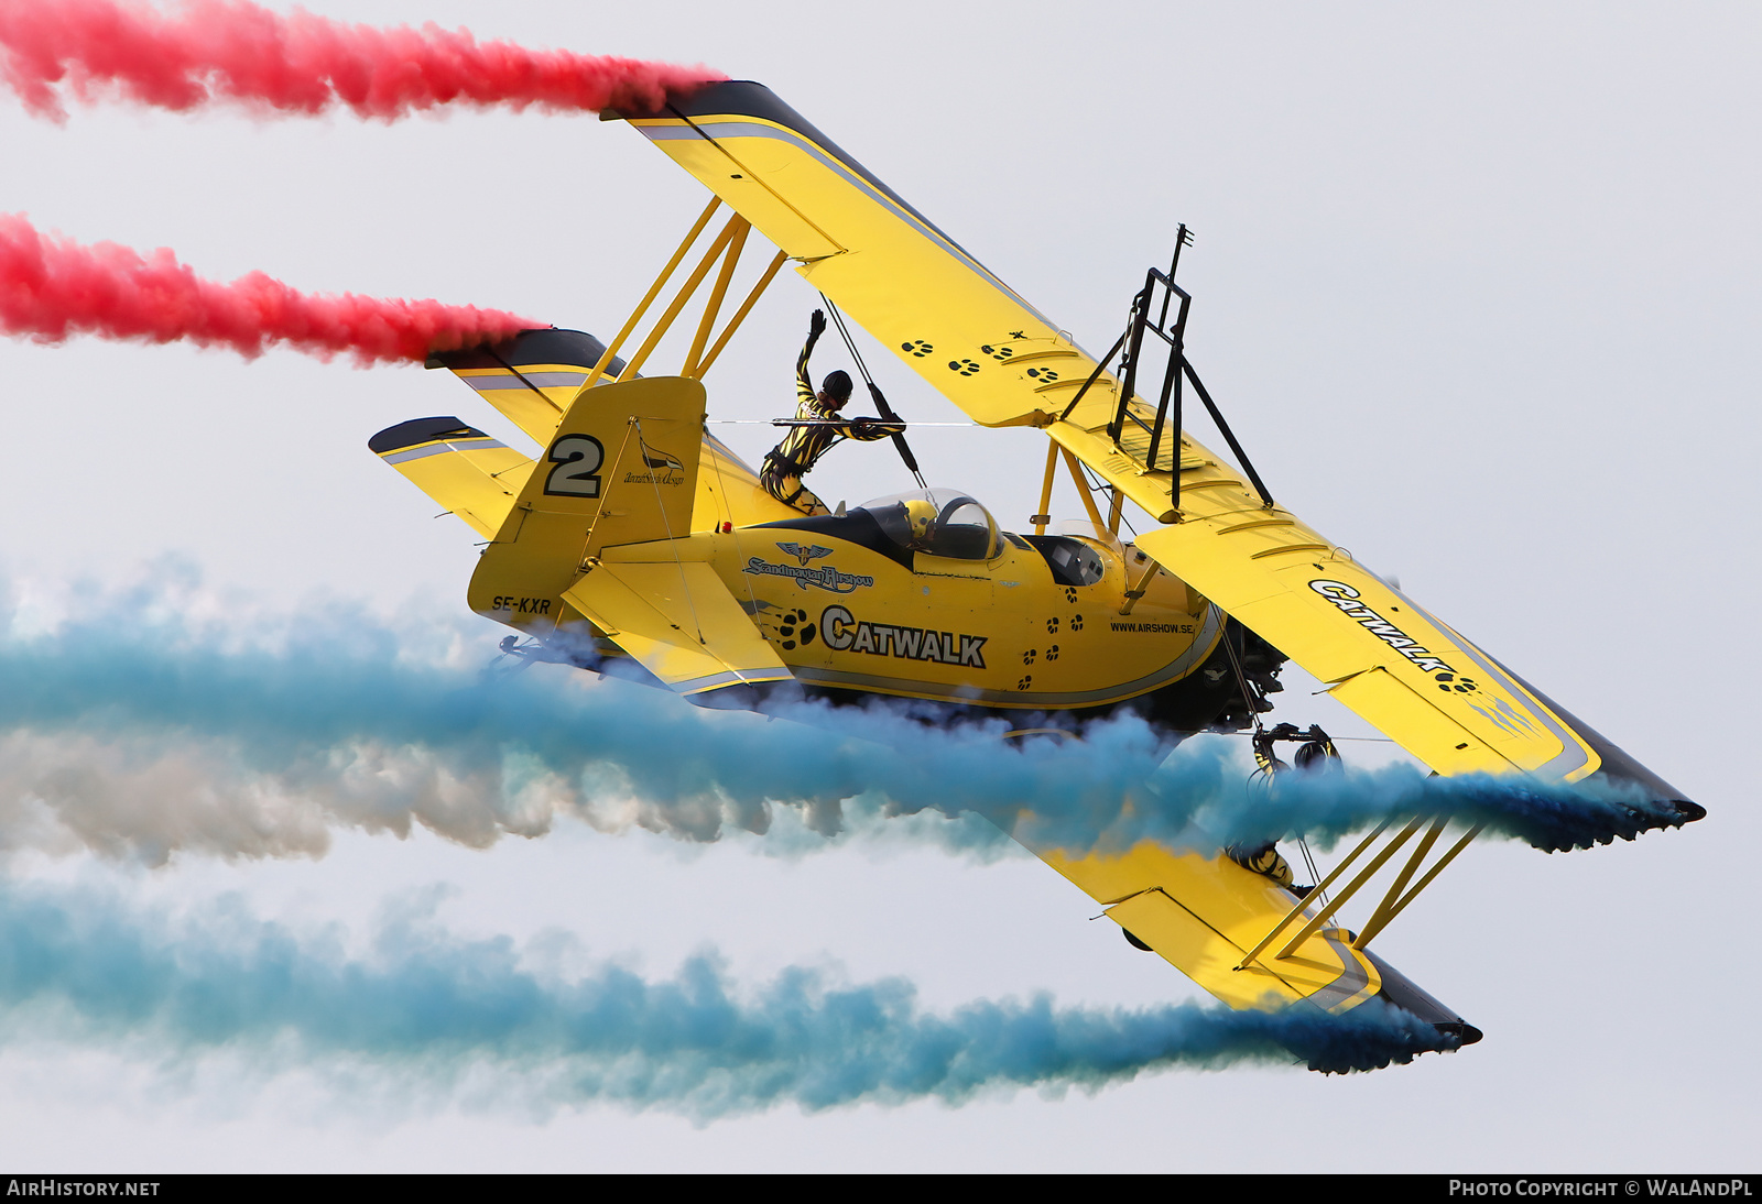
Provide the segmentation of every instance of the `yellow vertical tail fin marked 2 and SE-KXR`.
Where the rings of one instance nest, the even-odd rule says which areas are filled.
[[[470,609],[544,634],[573,616],[562,595],[601,547],[689,537],[703,407],[685,377],[581,393],[483,549]]]

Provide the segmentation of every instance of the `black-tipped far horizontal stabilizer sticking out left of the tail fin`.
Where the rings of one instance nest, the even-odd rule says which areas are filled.
[[[485,539],[500,530],[532,472],[530,459],[456,417],[398,422],[366,447]]]

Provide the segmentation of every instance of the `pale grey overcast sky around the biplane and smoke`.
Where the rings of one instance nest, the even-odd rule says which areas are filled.
[[[342,1097],[301,1074],[181,1076],[9,1026],[7,1164],[1755,1169],[1753,5],[314,7],[766,83],[1089,347],[1188,222],[1189,352],[1279,500],[1709,817],[1570,855],[1471,848],[1378,947],[1487,1039],[1373,1076],[1173,1072],[1096,1097],[782,1107],[698,1128],[601,1105]],[[601,334],[703,204],[645,139],[592,116],[388,127],[107,106],[56,127],[0,100],[0,211],[42,229],[171,246],[218,278],[264,269]],[[786,412],[812,305],[779,280],[707,378],[712,417]],[[900,414],[960,417],[867,347]],[[247,364],[9,341],[0,389],[0,572],[23,591],[92,593],[181,560],[206,590],[270,609],[462,613],[474,535],[432,519],[365,442],[430,414],[513,442],[449,375],[291,352]],[[754,459],[772,442],[722,433]],[[932,484],[1020,530],[1040,438],[914,445]],[[812,479],[853,503],[906,484],[885,444],[840,447]],[[481,632],[488,657],[500,632]],[[1369,734],[1286,676],[1279,718]],[[1378,746],[1350,755],[1364,748]],[[11,873],[187,910],[233,891],[263,915],[354,926],[444,884],[439,914],[460,933],[562,929],[659,975],[707,945],[752,982],[837,963],[909,977],[937,1007],[1195,993],[1087,922],[1098,908],[1034,861],[892,843],[791,861],[756,840],[684,848],[566,824],[486,850],[338,833],[317,861],[23,855]]]

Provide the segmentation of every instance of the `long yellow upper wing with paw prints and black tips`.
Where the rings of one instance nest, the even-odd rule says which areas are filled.
[[[1045,426],[1165,525],[1140,549],[1431,767],[1605,775],[1683,799],[1196,440],[1182,435],[1179,466],[1147,466],[1133,424],[1107,429],[1121,385],[1092,356],[766,88],[712,84],[627,120],[976,421]]]

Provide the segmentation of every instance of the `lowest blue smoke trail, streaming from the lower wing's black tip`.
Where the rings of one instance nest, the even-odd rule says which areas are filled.
[[[1454,1039],[1376,1002],[1232,1012],[973,1002],[923,1009],[909,982],[840,984],[791,968],[756,991],[714,954],[666,980],[618,965],[562,977],[507,938],[463,940],[425,915],[379,928],[351,959],[233,901],[199,922],[125,899],[0,882],[0,1014],[187,1061],[275,1051],[439,1086],[485,1072],[559,1104],[594,1100],[700,1120],[779,1104],[950,1104],[1015,1088],[1096,1090],[1168,1067],[1306,1061],[1367,1070]]]

